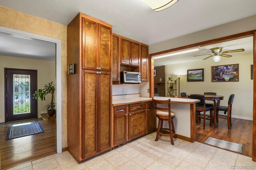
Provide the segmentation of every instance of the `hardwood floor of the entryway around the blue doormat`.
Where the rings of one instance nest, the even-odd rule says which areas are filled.
[[[0,128],[1,169],[56,153],[55,120],[39,122],[44,133],[11,140],[6,140],[10,126]]]

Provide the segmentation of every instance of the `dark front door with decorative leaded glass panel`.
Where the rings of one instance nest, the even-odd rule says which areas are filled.
[[[5,72],[6,122],[37,118],[37,70],[9,69]]]

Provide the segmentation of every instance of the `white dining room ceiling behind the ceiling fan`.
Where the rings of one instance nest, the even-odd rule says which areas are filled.
[[[169,65],[169,64],[176,64],[176,63],[200,61],[210,55],[203,55],[203,56],[196,56],[196,57],[193,57],[193,56],[202,55],[202,54],[211,54],[212,51],[210,49],[214,47],[222,47],[222,51],[228,51],[230,49],[240,49],[240,48],[245,49],[245,51],[243,52],[227,53],[228,55],[232,55],[232,56],[253,53],[253,37],[251,36],[247,38],[241,38],[238,40],[232,40],[228,42],[202,46],[202,47],[198,47],[199,51],[193,51],[190,53],[184,53],[184,54],[172,55],[169,57],[154,59],[154,65]],[[159,56],[159,55],[155,55],[154,57],[156,56]],[[212,57],[208,59],[212,60]],[[229,59],[232,59],[232,57],[230,57]]]

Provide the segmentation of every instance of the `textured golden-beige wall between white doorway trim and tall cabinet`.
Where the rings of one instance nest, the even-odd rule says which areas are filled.
[[[62,147],[67,147],[67,26],[3,6],[0,26],[62,40]]]

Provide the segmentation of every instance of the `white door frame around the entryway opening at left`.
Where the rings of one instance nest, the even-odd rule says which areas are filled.
[[[0,32],[56,44],[56,152],[62,152],[62,40],[0,26]],[[63,75],[64,76],[64,75]]]

